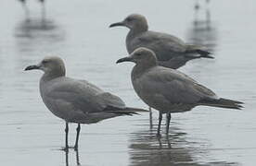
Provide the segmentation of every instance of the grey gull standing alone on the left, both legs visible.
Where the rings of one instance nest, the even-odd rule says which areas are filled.
[[[69,150],[69,124],[78,124],[74,149],[78,149],[81,124],[95,124],[102,120],[147,112],[143,109],[126,107],[116,95],[99,89],[86,80],[66,77],[63,60],[58,56],[46,56],[38,65],[29,65],[27,70],[42,70],[40,94],[45,106],[65,121],[65,151]]]

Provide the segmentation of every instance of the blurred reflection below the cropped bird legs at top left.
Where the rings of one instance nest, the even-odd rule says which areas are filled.
[[[65,31],[49,19],[24,19],[15,29],[19,53],[52,52],[65,40]]]

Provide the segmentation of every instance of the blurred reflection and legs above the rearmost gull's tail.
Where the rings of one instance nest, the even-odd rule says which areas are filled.
[[[204,45],[214,52],[217,42],[217,30],[211,21],[210,1],[206,0],[205,7],[200,6],[198,1],[195,2],[195,16],[192,27],[187,31],[187,41],[193,44]],[[202,12],[202,13],[200,13]],[[204,17],[200,18],[199,14]]]

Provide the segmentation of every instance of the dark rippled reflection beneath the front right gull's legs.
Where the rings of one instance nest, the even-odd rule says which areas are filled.
[[[132,165],[197,165],[186,142],[186,133],[171,126],[172,135],[158,139],[154,132],[140,131],[131,136]]]

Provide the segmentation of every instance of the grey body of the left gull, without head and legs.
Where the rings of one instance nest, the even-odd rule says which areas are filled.
[[[117,96],[84,80],[42,77],[40,93],[47,108],[70,123],[92,124],[122,114],[133,114]],[[123,112],[123,113],[122,113]]]

